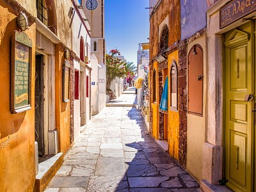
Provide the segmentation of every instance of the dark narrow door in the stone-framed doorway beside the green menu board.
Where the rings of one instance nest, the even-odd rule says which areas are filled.
[[[38,156],[44,156],[44,56],[36,55],[35,66],[35,141]]]

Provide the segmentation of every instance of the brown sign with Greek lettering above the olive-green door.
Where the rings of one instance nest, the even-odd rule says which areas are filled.
[[[234,0],[220,10],[220,29],[256,10],[255,0]]]

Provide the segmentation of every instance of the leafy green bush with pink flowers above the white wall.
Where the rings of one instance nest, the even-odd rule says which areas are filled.
[[[116,49],[113,49],[109,52],[109,54],[106,54],[106,88],[109,90],[112,81],[116,77],[125,77],[126,71],[125,71],[125,61],[121,61],[117,58],[117,56],[120,55],[120,52]]]

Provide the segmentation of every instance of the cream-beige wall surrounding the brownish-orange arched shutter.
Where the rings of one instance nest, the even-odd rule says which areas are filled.
[[[204,53],[204,77],[206,75],[206,56],[205,56],[205,36],[196,39],[188,44],[188,52],[195,44],[203,48]],[[206,106],[206,85],[207,78],[204,78],[204,104],[203,116],[196,116],[188,113],[188,132],[187,132],[187,169],[197,180],[202,179],[202,146],[205,142],[205,106]]]

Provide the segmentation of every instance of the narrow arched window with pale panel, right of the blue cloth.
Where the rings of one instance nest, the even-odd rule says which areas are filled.
[[[178,70],[176,61],[172,61],[170,69],[170,109],[177,111],[178,107]]]

